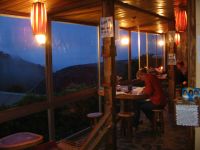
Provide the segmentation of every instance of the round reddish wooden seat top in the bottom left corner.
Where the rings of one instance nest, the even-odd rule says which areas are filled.
[[[0,139],[0,149],[26,149],[41,143],[43,136],[31,132],[18,132]]]

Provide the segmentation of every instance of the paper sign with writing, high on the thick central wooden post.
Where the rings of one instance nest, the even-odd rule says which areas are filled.
[[[113,37],[113,17],[102,17],[100,21],[101,37]]]

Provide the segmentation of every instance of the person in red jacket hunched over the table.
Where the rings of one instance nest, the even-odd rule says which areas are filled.
[[[146,117],[153,123],[153,109],[162,109],[167,101],[164,95],[160,80],[152,74],[147,73],[147,70],[141,69],[137,72],[137,77],[145,82],[145,87],[142,94],[145,94],[148,99],[138,100],[135,102],[135,117],[133,125],[137,128],[140,119],[140,110],[144,112]]]

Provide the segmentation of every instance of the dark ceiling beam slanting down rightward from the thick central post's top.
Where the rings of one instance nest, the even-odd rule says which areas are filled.
[[[121,7],[125,7],[125,8],[128,8],[128,9],[132,9],[132,10],[136,10],[136,11],[139,11],[139,12],[142,12],[142,13],[145,13],[145,14],[148,14],[148,15],[151,15],[151,16],[154,16],[154,17],[158,17],[160,19],[163,19],[163,20],[167,20],[167,21],[172,21],[172,19],[168,18],[168,17],[165,17],[165,16],[161,16],[159,14],[156,14],[154,12],[151,12],[151,11],[148,11],[146,9],[142,9],[140,7],[136,7],[136,6],[133,6],[133,5],[129,5],[127,3],[124,3],[120,0],[116,0],[115,1],[115,4],[116,5],[119,5]]]

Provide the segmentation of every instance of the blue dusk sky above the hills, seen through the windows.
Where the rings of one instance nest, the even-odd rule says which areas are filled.
[[[127,34],[121,31],[120,36]],[[53,22],[53,70],[97,62],[97,27]],[[137,57],[137,33],[132,33],[132,57]],[[141,49],[145,45],[141,44]],[[127,59],[127,46],[117,44],[117,60]],[[28,19],[0,17],[0,51],[44,65],[44,47],[36,43]]]

